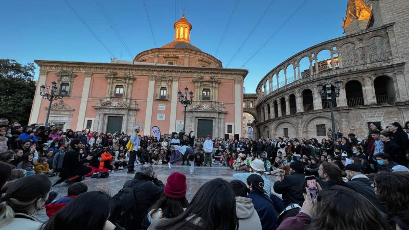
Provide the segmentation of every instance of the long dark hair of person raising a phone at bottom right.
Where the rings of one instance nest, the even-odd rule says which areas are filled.
[[[311,230],[391,229],[379,210],[367,198],[342,186],[320,191],[314,205],[316,216],[308,228]]]

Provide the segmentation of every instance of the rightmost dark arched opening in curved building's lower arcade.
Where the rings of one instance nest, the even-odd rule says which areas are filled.
[[[390,77],[380,76],[374,80],[376,103],[392,103],[395,102],[395,89],[393,81]]]

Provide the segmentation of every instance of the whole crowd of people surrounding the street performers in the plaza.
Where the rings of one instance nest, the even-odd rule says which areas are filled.
[[[371,123],[367,136],[321,142],[139,131],[0,119],[0,229],[409,229],[409,122]],[[189,202],[184,174],[165,185],[153,169],[185,162],[191,176],[214,165],[237,173],[206,182]],[[80,182],[122,169],[135,175],[112,197]],[[55,199],[51,187],[63,181],[67,194]],[[40,223],[34,216],[44,206],[50,219]]]

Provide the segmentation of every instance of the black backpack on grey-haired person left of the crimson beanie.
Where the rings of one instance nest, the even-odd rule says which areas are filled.
[[[138,182],[133,183],[130,181],[129,185],[112,197],[111,215],[108,220],[114,224],[118,223],[125,229],[132,229],[134,227],[133,219],[137,213],[137,204],[133,189],[139,184]]]

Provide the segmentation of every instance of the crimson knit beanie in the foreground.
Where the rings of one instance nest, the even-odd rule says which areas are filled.
[[[185,174],[174,172],[169,175],[163,193],[169,198],[178,199],[186,196],[186,188]]]

